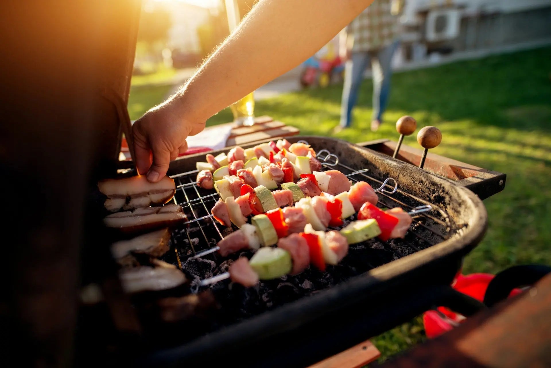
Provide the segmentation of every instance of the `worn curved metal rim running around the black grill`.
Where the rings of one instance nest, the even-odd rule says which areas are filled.
[[[317,318],[325,314],[366,301],[368,297],[365,293],[366,291],[369,292],[369,296],[377,295],[377,292],[374,291],[375,289],[382,288],[389,291],[392,289],[391,286],[396,286],[396,284],[404,285],[403,279],[413,280],[417,276],[422,276],[420,274],[426,273],[427,270],[434,267],[437,268],[439,264],[444,264],[450,260],[454,263],[453,260],[455,259],[457,260],[457,268],[450,270],[453,272],[449,272],[447,275],[434,275],[435,278],[433,281],[435,281],[435,284],[445,285],[446,282],[451,281],[453,275],[458,271],[461,259],[464,255],[477,246],[488,228],[488,214],[482,200],[480,200],[471,190],[458,185],[450,179],[426,172],[423,169],[419,169],[382,153],[338,138],[295,136],[291,138],[287,137],[286,139],[290,142],[296,142],[298,140],[306,140],[309,142],[320,139],[332,140],[337,144],[340,142],[355,150],[365,151],[373,157],[392,163],[396,166],[397,170],[401,168],[414,170],[418,175],[428,177],[436,184],[449,185],[450,188],[456,191],[455,195],[461,197],[464,204],[470,202],[473,212],[468,217],[466,226],[458,230],[458,232],[461,232],[459,236],[452,236],[434,246],[421,249],[413,254],[393,260],[393,262],[383,264],[375,269],[369,270],[365,275],[356,276],[341,284],[322,290],[316,295],[302,297],[299,300],[280,306],[273,311],[267,311],[258,316],[247,318],[239,323],[222,327],[179,346],[157,350],[144,357],[145,359],[142,360],[142,363],[145,365],[147,365],[147,362],[155,365],[159,365],[163,362],[174,364],[175,361],[194,359],[194,357],[201,357],[204,356],[204,354],[212,354],[213,349],[217,349],[219,352],[221,352],[223,348],[231,350],[232,348],[235,349],[235,346],[248,345],[251,341],[256,342],[257,340],[273,337],[277,334],[292,332],[293,329],[314,322]],[[248,148],[268,141],[269,140],[251,142],[241,147]],[[212,152],[212,154],[226,152],[230,149],[231,147],[225,147],[222,150]],[[204,154],[206,153],[197,153],[177,159],[171,163],[168,174],[171,175],[189,170],[189,168],[183,169],[183,166],[201,161],[201,159],[204,158]],[[401,183],[399,175],[396,180],[399,185]],[[440,276],[442,280],[437,280],[438,277],[436,276]],[[426,284],[421,286],[426,286]],[[385,292],[383,291],[382,294],[385,294]],[[427,302],[429,304],[431,303],[431,301]],[[313,313],[312,306],[316,306],[316,313]],[[297,318],[293,318],[296,317],[294,316],[295,314],[300,316],[300,322],[296,321]],[[293,323],[290,322],[291,320]]]

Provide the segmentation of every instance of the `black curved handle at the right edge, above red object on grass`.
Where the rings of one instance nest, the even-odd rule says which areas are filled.
[[[501,271],[488,284],[484,304],[493,307],[505,300],[516,287],[536,284],[543,276],[551,273],[551,267],[538,264],[512,266]]]

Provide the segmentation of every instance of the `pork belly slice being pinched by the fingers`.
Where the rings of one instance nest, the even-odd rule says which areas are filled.
[[[98,188],[107,196],[104,206],[111,212],[164,204],[176,193],[176,184],[171,178],[164,177],[157,183],[150,183],[145,175],[101,180]]]

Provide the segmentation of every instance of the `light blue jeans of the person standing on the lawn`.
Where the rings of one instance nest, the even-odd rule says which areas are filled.
[[[352,123],[352,109],[358,100],[358,90],[364,79],[365,68],[371,61],[373,74],[373,115],[372,120],[381,121],[390,94],[391,61],[399,42],[383,47],[377,51],[353,52],[344,66],[344,86],[341,103],[341,126]]]

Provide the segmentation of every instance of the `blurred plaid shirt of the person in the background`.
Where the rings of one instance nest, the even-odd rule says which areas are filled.
[[[391,14],[392,0],[375,0],[346,27],[352,52],[378,50],[396,39],[398,17]]]

